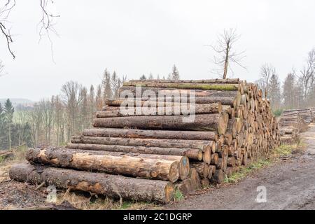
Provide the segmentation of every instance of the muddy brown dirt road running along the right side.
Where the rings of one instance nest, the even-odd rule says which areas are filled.
[[[302,134],[302,139],[308,144],[302,155],[166,209],[315,209],[315,125]],[[265,186],[266,202],[255,201],[258,186]]]

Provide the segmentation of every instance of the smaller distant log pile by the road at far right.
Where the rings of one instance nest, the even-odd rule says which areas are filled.
[[[281,142],[293,144],[300,139],[300,132],[306,132],[309,123],[313,121],[311,109],[290,109],[283,111],[279,125]]]

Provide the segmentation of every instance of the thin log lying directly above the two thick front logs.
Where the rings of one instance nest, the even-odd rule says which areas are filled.
[[[155,155],[185,155],[191,160],[202,160],[202,151],[195,148],[159,148],[145,146],[117,146],[117,145],[99,145],[99,144],[67,144],[66,148],[91,150],[91,151],[109,151],[120,153],[141,153]]]

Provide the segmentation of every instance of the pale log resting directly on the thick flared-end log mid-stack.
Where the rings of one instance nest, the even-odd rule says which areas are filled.
[[[153,107],[154,106],[154,107]],[[142,107],[132,107],[130,105],[117,107],[109,111],[97,111],[97,118],[116,118],[116,117],[132,117],[132,116],[169,116],[169,115],[189,115],[204,113],[221,113],[221,103],[214,104],[181,104],[179,106],[163,106],[148,104]]]

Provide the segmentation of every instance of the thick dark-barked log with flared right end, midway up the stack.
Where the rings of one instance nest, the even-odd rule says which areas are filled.
[[[215,131],[218,134],[225,134],[227,125],[227,113],[197,114],[195,116],[137,116],[94,119],[94,127]]]

